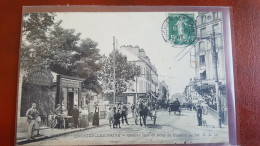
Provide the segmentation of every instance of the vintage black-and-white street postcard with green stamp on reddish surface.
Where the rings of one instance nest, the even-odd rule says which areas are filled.
[[[229,9],[67,8],[24,7],[17,145],[230,143]]]

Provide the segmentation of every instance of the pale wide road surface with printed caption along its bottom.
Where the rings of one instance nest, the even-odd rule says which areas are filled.
[[[159,111],[156,124],[150,117],[147,126],[136,125],[132,118],[129,125],[111,129],[108,125],[46,139],[27,145],[95,145],[95,144],[184,144],[228,142],[227,126],[216,128],[197,126],[195,111],[182,111],[181,115],[169,115]],[[206,116],[205,116],[206,117]]]

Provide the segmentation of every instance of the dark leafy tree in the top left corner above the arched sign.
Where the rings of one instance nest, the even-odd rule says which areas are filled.
[[[39,54],[44,56],[49,53],[49,34],[61,23],[55,21],[55,17],[55,13],[24,14],[20,50],[21,69],[27,71],[33,66],[46,65],[46,61]]]

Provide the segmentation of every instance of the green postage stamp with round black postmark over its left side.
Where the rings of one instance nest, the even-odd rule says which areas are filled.
[[[169,13],[161,31],[164,41],[174,47],[194,44],[197,35],[194,14]]]

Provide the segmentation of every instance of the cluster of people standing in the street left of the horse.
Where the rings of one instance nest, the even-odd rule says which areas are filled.
[[[109,107],[107,117],[110,128],[121,128],[120,119],[122,124],[126,122],[126,124],[129,125],[127,121],[128,109],[129,106],[126,104],[121,104],[121,102],[117,103],[114,107]]]

